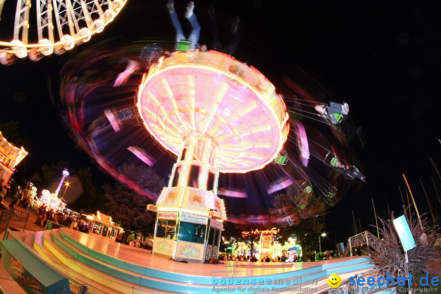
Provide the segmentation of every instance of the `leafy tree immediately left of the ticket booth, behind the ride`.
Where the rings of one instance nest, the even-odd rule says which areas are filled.
[[[148,189],[159,193],[165,186],[165,180],[147,167],[136,167],[133,164],[123,165],[119,172],[143,190]],[[152,200],[139,195],[121,183],[114,185],[105,183],[102,189],[106,213],[111,215],[113,220],[124,229],[123,243],[133,233],[147,232],[153,229],[155,216],[153,213],[146,212],[147,204],[152,203]]]

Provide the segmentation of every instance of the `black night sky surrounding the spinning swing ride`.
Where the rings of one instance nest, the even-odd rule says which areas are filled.
[[[427,211],[419,178],[434,195],[436,180],[428,157],[440,165],[441,97],[441,2],[440,1],[274,1],[213,2],[221,40],[227,39],[229,22],[241,19],[242,40],[236,56],[255,66],[269,79],[282,73],[308,73],[337,101],[346,101],[350,117],[362,127],[364,148],[357,150],[367,183],[354,187],[327,215],[322,245],[331,247],[352,236],[352,213],[362,229],[374,223],[370,194],[377,214],[387,217],[386,198],[399,215],[404,191],[402,173],[411,182],[420,213]],[[184,1],[176,1],[179,15]],[[200,44],[210,47],[208,2],[195,2],[202,26]],[[8,11],[13,13],[14,10]],[[4,22],[3,14],[2,20]],[[183,22],[182,22],[183,23]],[[184,24],[183,24],[184,25]],[[12,24],[10,24],[12,27]],[[2,28],[4,26],[1,26]],[[11,36],[12,36],[12,29]],[[3,35],[5,31],[2,31]],[[26,170],[15,177],[29,177],[43,164],[68,161],[72,169],[93,167],[97,185],[109,180],[91,159],[75,147],[58,116],[58,73],[81,49],[118,37],[173,38],[166,1],[128,0],[123,11],[105,28],[64,55],[51,55],[34,63],[28,59],[0,66],[0,123],[20,122],[25,146]],[[10,37],[11,38],[11,37]],[[277,91],[277,88],[276,88]],[[372,231],[372,229],[370,229]]]

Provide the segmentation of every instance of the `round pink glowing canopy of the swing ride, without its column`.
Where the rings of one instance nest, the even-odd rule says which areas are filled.
[[[217,142],[220,172],[263,168],[289,131],[285,103],[270,81],[217,51],[162,57],[144,75],[137,106],[149,133],[176,155],[190,133]]]

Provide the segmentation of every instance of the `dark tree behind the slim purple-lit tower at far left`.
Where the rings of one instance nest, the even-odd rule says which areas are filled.
[[[65,161],[59,161],[56,164],[44,165],[41,172],[34,172],[32,183],[37,187],[38,191],[47,189],[50,193],[54,193],[60,183],[62,172],[69,164]]]

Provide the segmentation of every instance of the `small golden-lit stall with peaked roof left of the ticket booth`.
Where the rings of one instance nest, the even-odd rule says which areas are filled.
[[[123,233],[123,228],[115,225],[112,217],[97,211],[96,215],[86,217],[89,220],[89,234],[98,235],[101,238],[115,241],[119,233]]]

